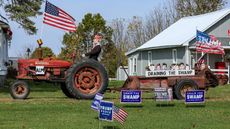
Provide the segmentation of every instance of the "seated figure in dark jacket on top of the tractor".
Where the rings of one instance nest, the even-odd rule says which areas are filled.
[[[98,56],[101,53],[101,42],[102,35],[101,34],[96,34],[93,39],[93,48],[91,49],[90,52],[83,54],[82,57],[88,56],[90,59],[94,59],[98,61]]]

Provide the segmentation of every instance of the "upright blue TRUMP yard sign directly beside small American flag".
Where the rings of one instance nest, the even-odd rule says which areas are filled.
[[[99,119],[113,121],[113,102],[101,101],[99,110]]]

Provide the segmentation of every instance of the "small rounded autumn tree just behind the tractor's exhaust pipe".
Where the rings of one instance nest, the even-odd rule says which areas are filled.
[[[41,47],[42,48],[42,57],[47,58],[47,57],[55,57],[55,54],[53,53],[52,49],[49,47]],[[39,58],[38,57],[38,49],[36,48],[33,53],[31,54],[31,58]]]

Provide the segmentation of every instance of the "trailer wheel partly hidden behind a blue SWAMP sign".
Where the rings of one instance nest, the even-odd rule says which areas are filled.
[[[193,80],[181,80],[174,88],[176,98],[181,100],[185,98],[186,91],[197,90],[198,86]]]

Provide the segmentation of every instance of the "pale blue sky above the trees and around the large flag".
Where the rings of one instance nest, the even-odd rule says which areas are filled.
[[[81,22],[87,13],[100,13],[109,23],[116,18],[131,19],[133,16],[145,18],[153,8],[162,5],[162,0],[49,0],[52,4],[63,9]],[[42,5],[44,11],[45,4]],[[25,53],[26,49],[37,47],[36,40],[40,37],[43,46],[50,47],[55,54],[59,54],[62,46],[64,30],[42,23],[43,16],[34,19],[38,32],[28,35],[19,25],[10,21],[13,39],[9,47],[9,56],[17,57]]]

